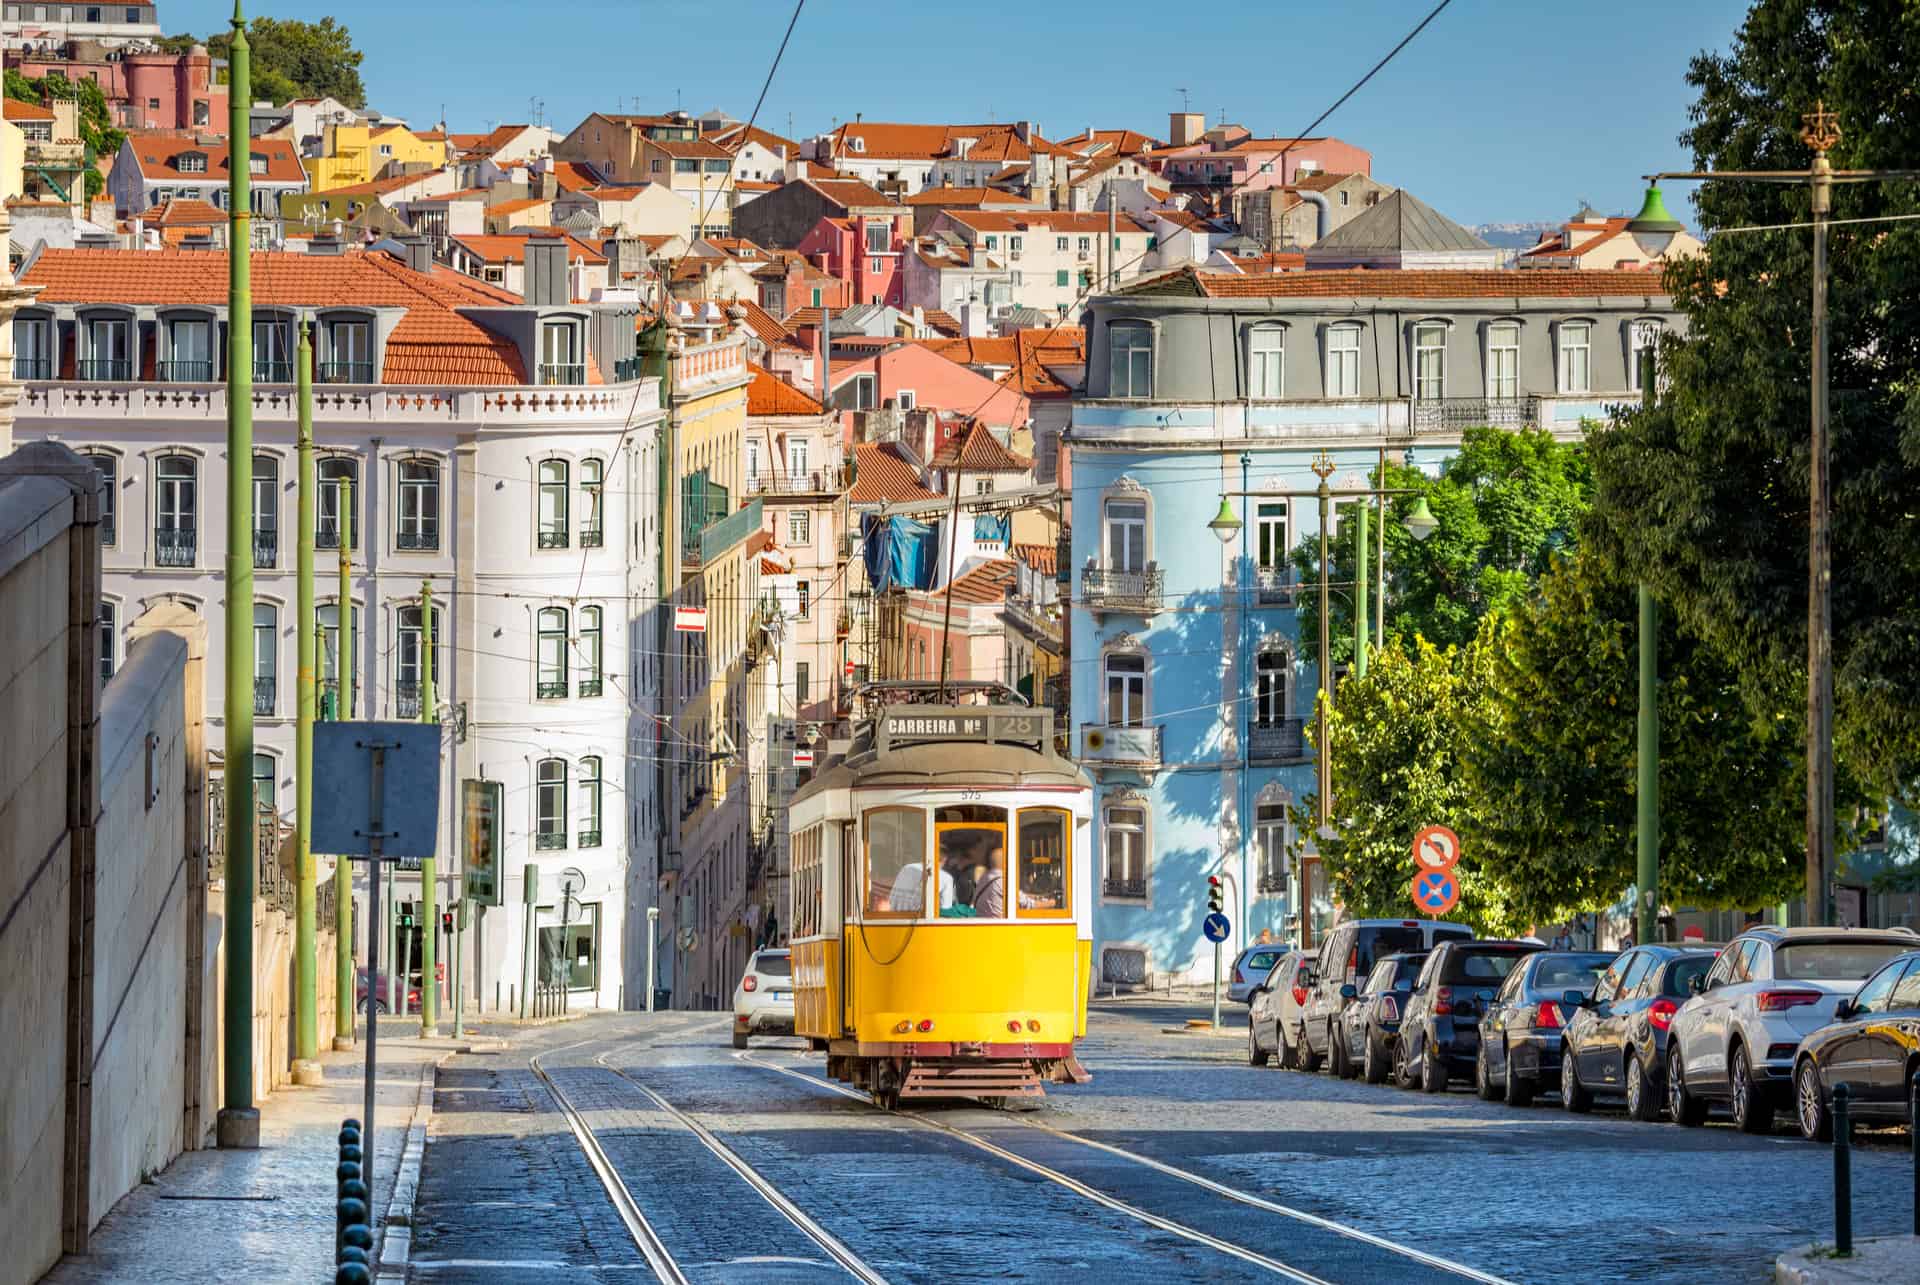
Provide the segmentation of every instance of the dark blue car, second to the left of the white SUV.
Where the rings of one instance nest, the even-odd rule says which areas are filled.
[[[1473,1085],[1482,1099],[1526,1106],[1542,1085],[1559,1083],[1567,1024],[1611,962],[1613,951],[1540,951],[1507,974],[1480,1012]]]

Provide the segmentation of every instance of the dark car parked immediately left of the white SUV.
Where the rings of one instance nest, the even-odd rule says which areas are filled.
[[[1613,960],[1567,1024],[1561,1106],[1578,1112],[1596,1093],[1624,1093],[1628,1116],[1659,1120],[1667,1031],[1718,953],[1711,945],[1644,945]]]

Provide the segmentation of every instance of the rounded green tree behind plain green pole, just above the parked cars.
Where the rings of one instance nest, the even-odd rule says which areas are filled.
[[[1670,613],[1657,645],[1663,901],[1791,897],[1805,870],[1793,691],[1755,713],[1732,667]],[[1636,876],[1634,590],[1590,557],[1559,559],[1534,597],[1486,620],[1480,651],[1482,699],[1465,707],[1461,847],[1500,870],[1523,920],[1617,903]]]

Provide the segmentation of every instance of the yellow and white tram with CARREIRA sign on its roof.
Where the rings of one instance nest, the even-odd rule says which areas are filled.
[[[889,1108],[1087,1079],[1091,784],[1050,709],[937,690],[870,688],[789,814],[795,1031]]]

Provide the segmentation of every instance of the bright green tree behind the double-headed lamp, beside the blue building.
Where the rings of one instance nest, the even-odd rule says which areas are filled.
[[[1382,484],[1375,474],[1375,484]],[[1524,597],[1555,549],[1572,540],[1586,507],[1590,474],[1576,444],[1557,442],[1542,428],[1469,428],[1459,453],[1438,478],[1419,469],[1388,463],[1386,488],[1411,488],[1427,496],[1438,519],[1419,542],[1405,528],[1413,496],[1398,496],[1386,519],[1386,632],[1400,645],[1425,638],[1440,647],[1473,642],[1480,620]],[[1369,544],[1377,540],[1371,530]],[[1331,540],[1329,580],[1334,590],[1329,613],[1334,665],[1354,655],[1354,532],[1342,521]],[[1369,551],[1367,578],[1377,567]],[[1300,594],[1302,655],[1319,659],[1319,536],[1308,536],[1292,555]]]

